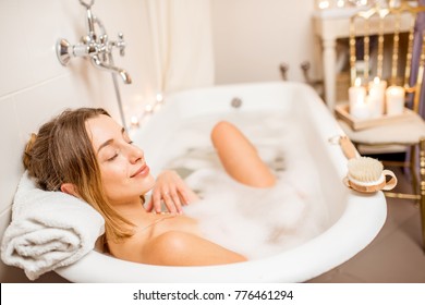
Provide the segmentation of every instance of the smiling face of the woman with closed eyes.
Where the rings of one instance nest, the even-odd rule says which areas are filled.
[[[86,129],[107,197],[112,204],[138,200],[155,184],[143,150],[134,146],[125,130],[108,115],[87,120]]]

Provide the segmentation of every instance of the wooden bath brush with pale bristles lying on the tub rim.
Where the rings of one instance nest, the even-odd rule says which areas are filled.
[[[341,136],[339,144],[349,160],[349,172],[343,180],[347,186],[362,193],[389,191],[396,187],[396,174],[390,170],[385,170],[380,161],[360,156],[353,143],[347,136]]]

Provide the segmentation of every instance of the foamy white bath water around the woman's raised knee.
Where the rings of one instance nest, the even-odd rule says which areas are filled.
[[[220,120],[232,122],[256,146],[278,179],[274,187],[250,187],[226,173],[210,142]],[[165,168],[178,171],[202,197],[184,212],[199,220],[208,240],[250,259],[279,254],[320,234],[328,211],[305,132],[296,118],[276,112],[185,120],[163,156]]]

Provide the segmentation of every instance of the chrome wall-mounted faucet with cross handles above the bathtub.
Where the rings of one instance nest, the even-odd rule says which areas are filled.
[[[131,84],[130,74],[121,68],[113,64],[112,50],[118,48],[120,54],[125,53],[125,41],[122,33],[118,34],[118,40],[109,40],[104,24],[98,17],[92,13],[94,0],[89,3],[80,0],[80,3],[86,8],[87,12],[87,35],[81,38],[81,42],[71,45],[66,39],[59,39],[57,42],[57,56],[62,65],[66,65],[71,58],[83,57],[89,58],[93,65],[101,70],[110,71],[119,75],[124,84]],[[100,35],[96,35],[96,25],[100,30]]]

